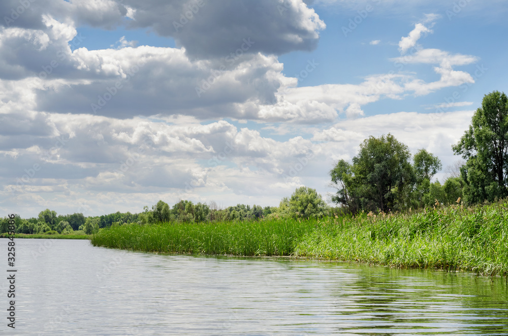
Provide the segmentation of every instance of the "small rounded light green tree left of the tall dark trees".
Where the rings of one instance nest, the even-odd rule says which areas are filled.
[[[289,210],[294,217],[319,218],[324,216],[326,204],[315,189],[300,187],[289,199]]]

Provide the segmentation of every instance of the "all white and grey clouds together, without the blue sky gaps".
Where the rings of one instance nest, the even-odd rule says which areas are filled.
[[[278,55],[316,47],[325,24],[310,3],[30,3],[0,28],[0,196],[9,199],[0,210],[70,212],[72,200],[75,211],[97,215],[140,211],[161,198],[217,197],[229,205],[268,194],[264,205],[274,205],[301,184],[326,185],[333,160],[351,159],[369,135],[392,131],[411,148],[449,152],[469,112],[431,120],[363,110],[471,83],[453,67],[478,59],[421,48],[407,55],[437,19],[427,16],[401,40],[406,54],[392,61],[432,64],[439,81],[406,72],[299,87]],[[16,4],[3,2],[0,11]],[[88,50],[82,25],[149,28],[177,48],[122,37]],[[35,164],[41,169],[32,174]]]

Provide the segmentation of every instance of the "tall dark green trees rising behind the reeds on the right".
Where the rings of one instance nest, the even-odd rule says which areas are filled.
[[[352,213],[402,211],[462,200],[466,204],[494,202],[508,196],[508,99],[486,94],[471,125],[452,146],[464,164],[460,174],[443,184],[431,183],[441,161],[425,149],[411,156],[391,134],[369,137],[349,163],[339,160],[330,171],[337,189],[332,200]],[[411,162],[412,158],[412,162]]]

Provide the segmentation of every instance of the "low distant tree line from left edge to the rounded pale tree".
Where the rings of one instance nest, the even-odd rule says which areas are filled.
[[[300,187],[291,197],[284,197],[280,207],[261,207],[258,205],[238,204],[226,209],[219,209],[212,201],[209,205],[194,204],[190,200],[180,200],[170,207],[165,201],[159,200],[149,209],[139,214],[112,213],[102,216],[84,217],[82,213],[57,215],[55,211],[46,209],[37,218],[22,219],[16,215],[17,233],[39,234],[92,234],[105,227],[115,227],[136,223],[140,225],[177,222],[201,223],[211,221],[259,220],[270,217],[322,217],[327,209],[321,195],[315,189]],[[0,233],[8,232],[8,220],[0,220]]]

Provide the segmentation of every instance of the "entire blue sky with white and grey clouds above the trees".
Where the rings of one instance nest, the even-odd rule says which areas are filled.
[[[278,206],[391,133],[442,161],[506,91],[506,1],[7,0],[0,211]]]

